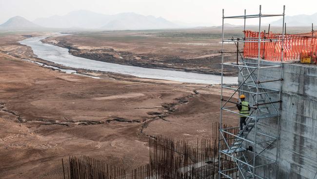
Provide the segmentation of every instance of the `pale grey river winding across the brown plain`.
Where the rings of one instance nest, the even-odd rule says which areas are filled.
[[[43,44],[41,40],[46,37],[47,36],[28,38],[20,41],[20,44],[30,46],[33,50],[33,53],[39,58],[65,67],[115,72],[133,75],[140,78],[162,79],[185,83],[221,83],[221,76],[219,75],[119,65],[76,57],[69,54],[67,48],[50,44]],[[226,76],[224,77],[224,83],[237,84],[238,77]]]

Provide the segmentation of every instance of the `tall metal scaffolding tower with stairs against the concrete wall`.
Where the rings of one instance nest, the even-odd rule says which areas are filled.
[[[266,155],[265,152],[268,148],[272,151],[272,148],[277,147],[278,133],[272,134],[269,132],[264,133],[260,130],[259,125],[265,123],[264,120],[275,119],[277,120],[277,126],[279,126],[279,116],[280,116],[280,106],[281,106],[281,85],[282,85],[282,67],[283,67],[283,50],[281,50],[281,62],[280,63],[264,63],[261,59],[260,49],[261,43],[274,42],[275,39],[261,39],[261,18],[264,17],[276,17],[282,16],[282,46],[284,46],[284,16],[285,16],[285,5],[283,7],[282,14],[262,14],[261,5],[259,6],[259,14],[256,15],[246,15],[246,10],[244,10],[244,15],[242,16],[224,16],[224,10],[222,9],[222,64],[221,64],[221,106],[220,106],[220,128],[219,128],[219,179],[221,178],[231,178],[229,174],[233,172],[238,172],[239,179],[267,179],[265,174],[263,174],[264,167],[274,168],[275,176],[277,173],[277,152],[275,154]],[[224,20],[225,19],[244,19],[244,28],[246,19],[258,18],[258,38],[246,39],[245,37],[240,39],[224,39]],[[224,63],[224,43],[232,42],[237,46],[237,63]],[[242,52],[238,48],[238,43],[258,43],[258,58],[255,59],[257,63],[252,63],[252,61],[244,59]],[[240,60],[238,61],[238,56]],[[239,84],[238,85],[228,85],[223,81],[223,67],[233,66],[238,68],[239,72]],[[273,76],[266,74],[266,80],[260,80],[261,70],[267,68],[275,68],[275,70],[280,71],[280,76]],[[263,72],[263,71],[262,71]],[[271,79],[268,79],[271,78]],[[277,83],[275,87],[268,88],[268,83]],[[278,89],[279,87],[279,89]],[[223,89],[234,90],[232,95],[224,99]],[[235,94],[245,94],[246,101],[249,102],[251,111],[250,115],[240,114],[236,107],[236,102],[233,102],[233,97]],[[273,100],[276,99],[276,100]],[[231,106],[229,105],[231,104]],[[233,105],[234,104],[234,105]],[[246,117],[246,125],[244,125],[243,130],[238,134],[233,134],[229,132],[229,129],[222,128],[223,113],[230,112],[237,114],[237,116]],[[238,118],[238,117],[237,117]],[[277,130],[278,131],[278,130]],[[229,137],[228,137],[229,136]],[[232,142],[232,139],[234,141]],[[221,144],[225,143],[225,147]],[[248,147],[247,147],[248,146]],[[276,150],[277,151],[277,150]],[[232,159],[236,164],[233,168],[222,169],[221,161],[223,158],[220,154],[224,154]],[[269,157],[268,157],[269,156]]]

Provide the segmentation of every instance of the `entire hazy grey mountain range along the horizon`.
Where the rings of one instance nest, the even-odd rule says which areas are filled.
[[[309,26],[317,24],[317,13],[313,15],[286,16],[287,26]],[[282,25],[282,19],[271,22],[274,26]],[[236,25],[226,24],[234,28]],[[0,25],[0,30],[38,30],[45,28],[77,28],[101,30],[144,30],[195,27],[183,22],[171,22],[162,17],[143,16],[136,13],[105,15],[87,10],[70,12],[64,16],[54,15],[38,18],[30,22],[20,16],[10,18]]]

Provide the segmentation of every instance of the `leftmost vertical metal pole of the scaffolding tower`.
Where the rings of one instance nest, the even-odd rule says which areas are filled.
[[[221,98],[221,102],[220,102],[220,123],[219,123],[219,135],[218,135],[218,149],[219,151],[221,150],[221,145],[220,145],[220,133],[222,130],[222,86],[223,86],[223,40],[224,40],[224,29],[223,29],[223,23],[224,23],[224,9],[222,9],[222,53],[221,53],[221,94],[220,94],[220,98]],[[221,158],[220,158],[220,152],[218,151],[218,179],[220,179],[220,171],[221,171]]]

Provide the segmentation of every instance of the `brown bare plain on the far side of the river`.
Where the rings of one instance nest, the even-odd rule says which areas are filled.
[[[221,74],[221,35],[210,29],[81,32],[43,42],[66,47],[72,55],[103,62]],[[233,45],[226,46],[230,51],[236,50]],[[226,53],[224,57],[226,62],[234,62],[235,54]],[[238,73],[226,66],[224,74]]]

